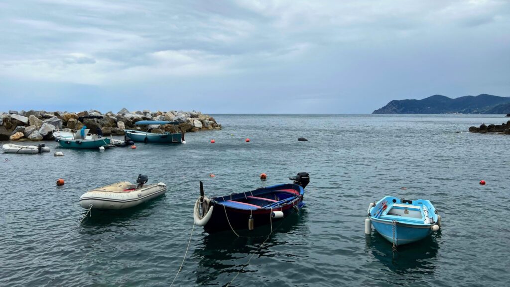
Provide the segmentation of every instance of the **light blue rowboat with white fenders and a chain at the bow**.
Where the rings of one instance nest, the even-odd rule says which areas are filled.
[[[428,200],[405,200],[387,196],[370,203],[368,220],[382,237],[395,246],[422,240],[441,227],[441,217]],[[369,232],[370,226],[366,226]],[[368,231],[367,231],[368,230]]]

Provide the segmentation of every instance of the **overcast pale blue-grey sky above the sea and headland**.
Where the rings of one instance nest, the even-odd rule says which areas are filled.
[[[510,96],[510,1],[0,2],[0,110],[371,113]]]

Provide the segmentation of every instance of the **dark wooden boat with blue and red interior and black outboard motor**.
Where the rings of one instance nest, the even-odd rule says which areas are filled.
[[[224,230],[249,229],[270,224],[299,210],[304,188],[310,182],[308,173],[290,178],[293,183],[279,184],[208,199],[200,182],[200,198],[195,202],[195,224],[208,233]]]

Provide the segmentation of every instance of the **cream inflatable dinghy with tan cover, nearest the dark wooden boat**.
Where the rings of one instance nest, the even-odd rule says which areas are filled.
[[[135,190],[126,190],[130,187],[134,186],[130,182],[124,181],[90,190],[80,197],[80,206],[85,209],[89,209],[91,205],[92,209],[125,209],[137,206],[166,192],[166,184],[162,182],[144,185]]]

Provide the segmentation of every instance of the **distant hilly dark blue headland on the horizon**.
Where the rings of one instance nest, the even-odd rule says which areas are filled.
[[[393,100],[372,114],[507,114],[510,113],[510,97],[491,94],[466,95],[451,99],[436,94],[422,100]]]

